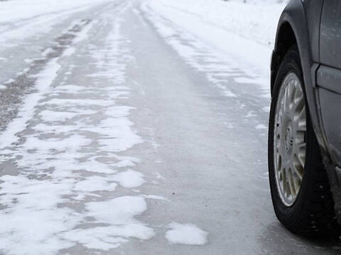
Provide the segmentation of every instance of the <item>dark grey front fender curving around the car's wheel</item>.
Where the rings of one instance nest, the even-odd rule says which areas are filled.
[[[314,28],[308,24],[306,14],[307,13],[305,13],[305,8],[301,0],[291,0],[279,19],[276,42],[271,59],[271,94],[272,89],[274,89],[274,82],[278,72],[278,67],[281,64],[284,55],[286,55],[287,50],[291,47],[291,45],[296,43],[298,53],[301,58],[301,67],[303,71],[305,94],[308,101],[310,120],[313,124],[320,147],[323,150],[323,154],[325,154],[325,135],[323,132],[323,126],[321,125],[320,113],[318,111],[318,100],[316,99],[314,89],[315,72],[319,66],[319,48],[316,47],[316,45],[319,45],[318,37],[320,31],[318,27],[318,33],[315,33],[315,31],[314,33],[310,33],[310,31],[314,30]],[[308,13],[308,15],[310,14]],[[315,40],[317,40],[317,42],[315,42]]]

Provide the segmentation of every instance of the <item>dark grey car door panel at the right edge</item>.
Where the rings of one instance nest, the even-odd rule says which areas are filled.
[[[324,0],[320,23],[318,98],[328,149],[341,164],[341,0]]]

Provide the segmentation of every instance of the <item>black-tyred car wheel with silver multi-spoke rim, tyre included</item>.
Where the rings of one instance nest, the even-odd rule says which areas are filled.
[[[334,202],[310,123],[297,46],[276,76],[269,120],[269,180],[278,220],[306,236],[336,229]]]

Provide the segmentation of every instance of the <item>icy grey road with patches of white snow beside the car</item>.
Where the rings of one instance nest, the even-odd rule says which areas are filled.
[[[262,72],[148,1],[77,8],[0,51],[0,254],[339,254],[276,220]]]

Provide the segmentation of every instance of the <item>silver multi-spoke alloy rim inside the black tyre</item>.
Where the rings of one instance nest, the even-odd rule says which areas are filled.
[[[305,98],[298,76],[290,72],[278,94],[274,128],[276,186],[286,206],[295,203],[304,174],[306,152]]]

